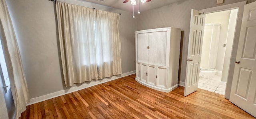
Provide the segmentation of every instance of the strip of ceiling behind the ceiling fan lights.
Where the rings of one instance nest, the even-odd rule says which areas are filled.
[[[124,0],[105,0],[104,2],[100,2],[98,0],[82,0],[82,1],[101,4],[104,6],[109,6],[109,7],[116,8],[119,10],[124,10],[127,12],[131,12],[133,10],[132,4],[130,4],[130,2],[123,3]],[[183,1],[183,0],[151,0],[150,2],[146,2],[144,4],[140,2],[140,11],[160,8],[162,6],[166,6],[168,4],[172,4],[179,1]],[[138,10],[138,1],[135,7],[136,7],[135,10]]]

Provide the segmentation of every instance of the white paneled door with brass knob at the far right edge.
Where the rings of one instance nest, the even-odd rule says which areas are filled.
[[[230,101],[256,117],[256,2],[244,6],[244,14]]]

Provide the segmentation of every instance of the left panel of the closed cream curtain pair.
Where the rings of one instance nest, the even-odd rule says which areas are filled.
[[[66,86],[98,79],[93,9],[56,2],[56,11]]]

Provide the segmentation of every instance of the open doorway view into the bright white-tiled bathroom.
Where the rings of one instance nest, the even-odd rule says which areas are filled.
[[[198,88],[225,94],[238,9],[206,14]]]

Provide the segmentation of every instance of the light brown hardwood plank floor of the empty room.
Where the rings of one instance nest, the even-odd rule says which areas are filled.
[[[224,96],[184,87],[170,93],[142,86],[135,74],[27,106],[20,119],[254,119]]]

